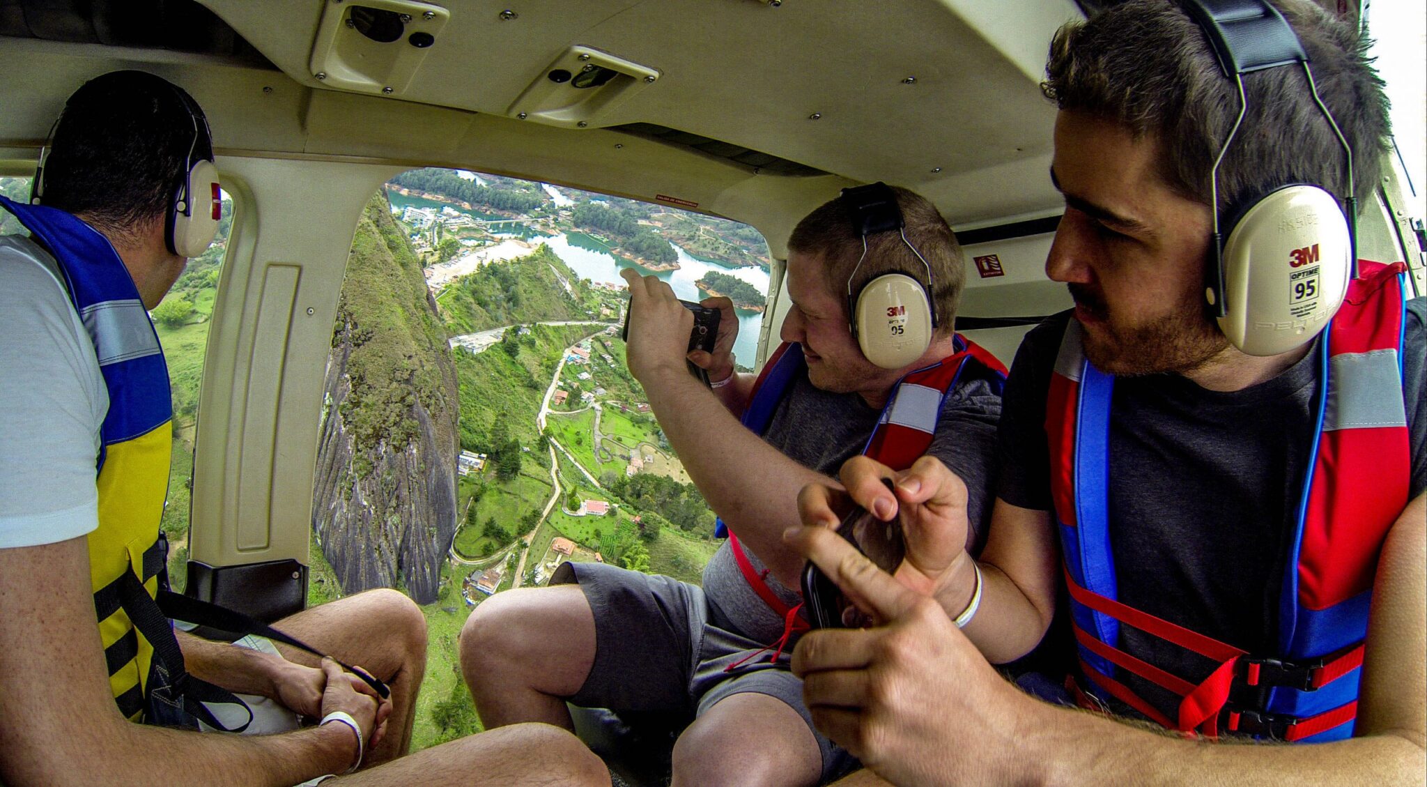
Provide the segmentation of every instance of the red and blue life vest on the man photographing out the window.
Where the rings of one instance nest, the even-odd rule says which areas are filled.
[[[863,456],[893,470],[910,467],[930,447],[932,437],[936,436],[936,421],[942,416],[942,401],[956,389],[956,383],[962,379],[969,363],[983,367],[983,376],[990,380],[992,390],[997,396],[1000,394],[1006,383],[1006,367],[996,360],[996,356],[959,334],[953,337],[952,346],[956,350],[953,354],[932,366],[909,371],[898,380],[892,396],[882,407],[878,426],[862,448]],[[806,369],[801,344],[785,341],[779,346],[753,383],[748,407],[743,410],[743,426],[759,436],[768,431],[768,424],[772,423],[778,404],[788,393],[788,386],[798,376],[805,374]],[[733,560],[743,573],[748,586],[769,608],[783,616],[786,621],[785,641],[789,631],[805,630],[808,623],[798,617],[798,607],[789,607],[768,587],[766,571],[753,568],[738,537],[723,524],[722,518],[715,524],[715,534],[728,536]]]

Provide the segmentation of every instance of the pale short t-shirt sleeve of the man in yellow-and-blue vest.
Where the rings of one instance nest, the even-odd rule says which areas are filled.
[[[59,264],[0,237],[0,548],[98,526],[94,463],[108,389]]]

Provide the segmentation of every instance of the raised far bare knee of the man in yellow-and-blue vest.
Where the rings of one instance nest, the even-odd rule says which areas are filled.
[[[358,666],[391,687],[387,736],[367,754],[368,766],[401,757],[411,746],[417,691],[427,673],[427,618],[397,590],[368,590],[277,621],[284,634]],[[304,650],[274,643],[288,661],[318,666]]]

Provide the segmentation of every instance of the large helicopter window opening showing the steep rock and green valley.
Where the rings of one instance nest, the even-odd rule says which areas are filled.
[[[385,584],[421,606],[432,704],[412,748],[479,728],[454,637],[489,594],[565,561],[698,583],[721,543],[625,364],[624,267],[748,307],[736,356],[753,361],[771,259],[745,224],[445,169],[398,174],[361,214],[324,383],[308,603]]]

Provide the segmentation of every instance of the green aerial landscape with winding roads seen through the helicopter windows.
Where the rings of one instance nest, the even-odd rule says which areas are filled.
[[[479,730],[455,648],[465,618],[491,590],[478,580],[499,593],[544,584],[559,561],[602,560],[698,583],[719,544],[714,514],[625,367],[622,281],[612,273],[598,281],[582,277],[552,250],[555,240],[544,239],[558,233],[645,271],[668,266],[674,246],[676,259],[696,257],[721,270],[766,269],[766,244],[732,221],[572,189],[557,194],[564,204],[554,204],[542,184],[414,170],[372,196],[354,236],[330,361],[331,371],[341,356],[345,397],[323,407],[324,421],[341,418],[352,448],[341,461],[344,483],[357,491],[337,494],[360,494],[358,484],[375,483],[400,497],[395,478],[377,476],[390,476],[382,463],[402,447],[454,448],[479,464],[462,468],[455,456],[441,457],[457,470],[455,521],[450,543],[442,541],[434,600],[421,607],[430,648],[414,748]],[[231,223],[233,206],[224,206],[218,241],[153,311],[173,379],[173,476],[163,527],[180,587],[197,394]],[[402,221],[404,214],[421,226]],[[509,251],[512,243],[521,244],[519,256]],[[452,269],[459,276],[445,280],[431,276],[489,250],[505,256]],[[738,284],[711,271],[699,289],[761,309],[756,290]],[[450,423],[442,413],[452,414]],[[447,433],[450,448],[432,448],[445,446]],[[318,464],[324,461],[320,454]],[[317,476],[324,477],[323,467]],[[314,526],[320,518],[314,510]],[[342,587],[347,558],[332,538],[324,543],[314,527],[310,604],[365,588]],[[398,571],[387,584],[407,590],[407,576]]]

